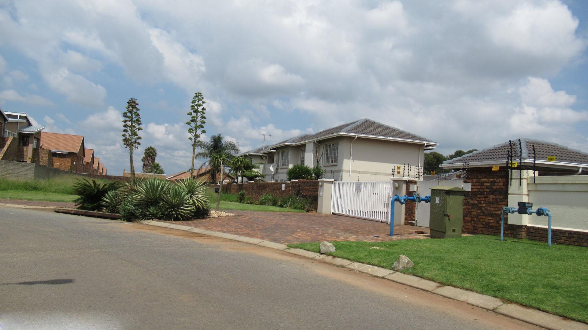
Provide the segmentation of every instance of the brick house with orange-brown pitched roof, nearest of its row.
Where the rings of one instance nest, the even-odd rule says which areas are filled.
[[[42,148],[51,150],[53,167],[76,173],[86,173],[83,136],[62,133],[41,133]]]

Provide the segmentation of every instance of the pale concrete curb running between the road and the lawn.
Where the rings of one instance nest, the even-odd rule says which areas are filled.
[[[511,318],[527,322],[529,324],[541,326],[542,328],[546,329],[588,330],[588,324],[582,322],[562,318],[562,316],[549,314],[546,312],[539,311],[538,309],[522,305],[508,304],[498,298],[490,297],[489,295],[483,295],[465,289],[450,287],[449,285],[442,285],[437,282],[425,280],[424,278],[416,277],[413,275],[403,274],[401,272],[396,272],[393,270],[389,270],[387,268],[366,265],[362,264],[361,262],[354,262],[343,258],[333,257],[332,255],[319,254],[316,252],[302,250],[299,248],[288,248],[288,246],[285,244],[275,243],[272,241],[265,241],[259,238],[250,238],[234,234],[220,233],[218,231],[211,231],[196,227],[188,227],[186,225],[161,223],[159,221],[153,220],[144,220],[140,222],[147,225],[156,225],[158,227],[185,230],[190,231],[191,233],[211,235],[221,238],[227,238],[229,240],[240,241],[243,243],[256,244],[262,247],[269,247],[274,248],[276,250],[289,252],[312,260],[327,262],[329,264],[337,265],[339,267],[343,266],[345,268],[349,268],[350,270],[363,272],[365,274],[370,274],[375,277],[384,278],[389,281],[409,285],[410,287],[421,289],[423,291],[428,291],[445,298],[463,301],[467,304],[484,308],[488,311],[496,312],[502,315],[506,315]]]

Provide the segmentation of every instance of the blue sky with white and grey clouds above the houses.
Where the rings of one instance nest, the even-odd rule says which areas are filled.
[[[129,169],[129,97],[143,147],[188,169],[195,92],[207,135],[243,151],[363,117],[443,154],[516,137],[588,150],[580,0],[0,0],[0,31],[0,107],[85,136],[109,174]]]

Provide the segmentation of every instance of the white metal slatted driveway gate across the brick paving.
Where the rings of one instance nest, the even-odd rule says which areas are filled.
[[[390,222],[392,181],[333,182],[331,212]]]

